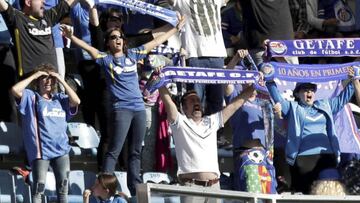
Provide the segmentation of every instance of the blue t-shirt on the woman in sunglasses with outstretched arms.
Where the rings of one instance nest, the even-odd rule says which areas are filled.
[[[137,61],[145,58],[146,54],[144,46],[140,46],[129,49],[127,56],[115,58],[111,54],[103,54],[96,59],[96,63],[105,70],[113,108],[145,110],[139,87]]]

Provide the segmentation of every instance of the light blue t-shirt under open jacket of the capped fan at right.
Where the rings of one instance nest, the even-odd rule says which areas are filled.
[[[327,136],[325,113],[310,106],[306,110],[299,155],[333,153]]]

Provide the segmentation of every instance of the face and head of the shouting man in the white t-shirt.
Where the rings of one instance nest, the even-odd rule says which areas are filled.
[[[187,117],[199,119],[202,117],[200,98],[196,94],[190,94],[186,97],[183,110]]]

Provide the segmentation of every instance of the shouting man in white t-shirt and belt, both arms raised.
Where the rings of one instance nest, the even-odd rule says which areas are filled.
[[[186,92],[181,98],[180,109],[183,113],[179,113],[168,89],[166,87],[159,89],[175,142],[177,174],[181,185],[220,189],[217,130],[223,127],[224,123],[246,102],[253,91],[254,88],[251,86],[223,110],[203,116],[200,98],[194,90]],[[184,197],[182,199],[182,202],[186,203],[204,201],[208,200],[201,197]]]

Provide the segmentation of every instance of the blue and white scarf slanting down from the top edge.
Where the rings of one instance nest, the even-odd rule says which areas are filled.
[[[95,0],[95,2],[97,4],[112,4],[115,6],[122,6],[142,14],[151,15],[170,23],[174,27],[178,22],[175,11],[145,3],[140,0]]]

